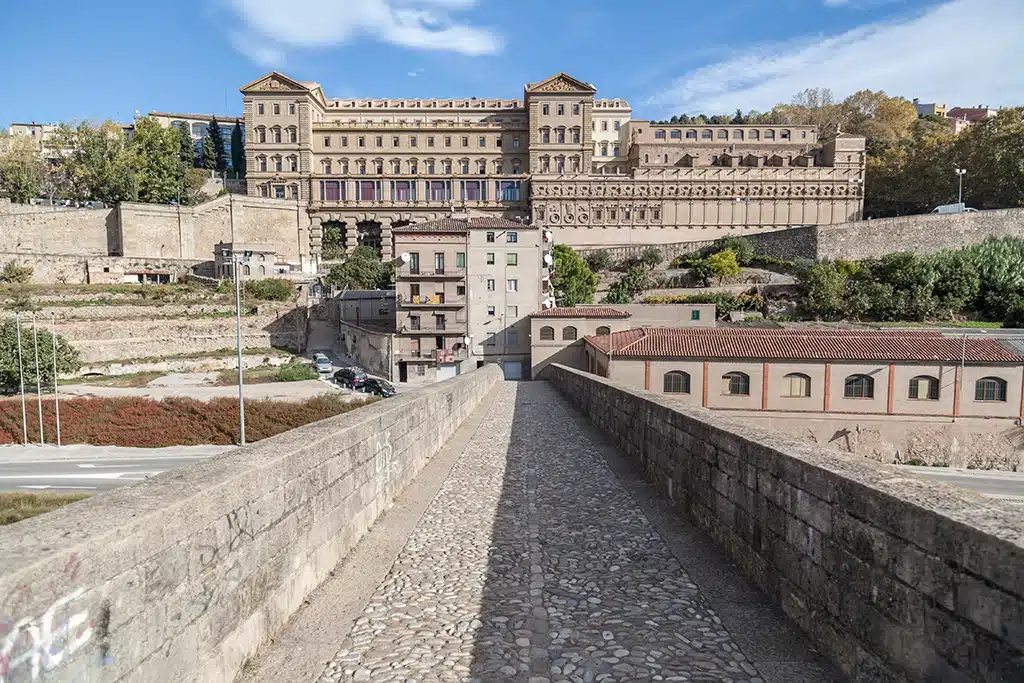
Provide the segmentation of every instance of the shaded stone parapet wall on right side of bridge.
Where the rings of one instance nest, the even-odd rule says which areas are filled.
[[[546,377],[851,680],[1024,680],[1024,512],[560,366]]]

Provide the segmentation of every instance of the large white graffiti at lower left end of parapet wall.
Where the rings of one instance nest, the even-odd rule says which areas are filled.
[[[0,683],[38,681],[89,642],[94,625],[88,610],[76,606],[84,595],[80,588],[57,599],[38,618],[3,625]]]

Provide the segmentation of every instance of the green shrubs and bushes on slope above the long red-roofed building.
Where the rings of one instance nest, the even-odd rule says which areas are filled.
[[[665,261],[656,247],[614,262],[603,250],[580,255],[559,245],[556,299],[562,306],[714,303],[719,316],[756,311],[794,322],[1024,327],[1024,240],[1019,239],[931,255],[900,252],[814,263],[759,253],[754,241],[735,237]],[[778,278],[771,282],[763,273]],[[599,297],[602,279],[613,280]]]

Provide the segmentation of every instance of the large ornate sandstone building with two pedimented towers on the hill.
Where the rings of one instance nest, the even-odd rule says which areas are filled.
[[[276,72],[242,88],[250,195],[308,205],[345,247],[454,210],[573,246],[699,242],[857,220],[864,139],[812,126],[676,125],[565,74],[521,99],[328,99]]]

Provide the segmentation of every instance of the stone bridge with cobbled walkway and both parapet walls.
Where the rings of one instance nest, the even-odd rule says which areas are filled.
[[[1024,681],[1024,515],[545,372],[0,529],[0,682]]]

